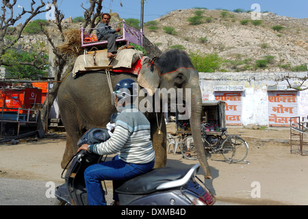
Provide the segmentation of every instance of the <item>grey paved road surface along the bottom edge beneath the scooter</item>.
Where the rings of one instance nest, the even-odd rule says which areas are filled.
[[[46,187],[47,185],[47,187]],[[55,186],[60,184],[55,184]],[[0,178],[0,205],[54,205],[55,198],[47,198],[51,186],[44,181]],[[47,195],[46,195],[47,194]],[[112,202],[112,190],[108,190],[107,204]],[[216,205],[231,205],[216,202]]]

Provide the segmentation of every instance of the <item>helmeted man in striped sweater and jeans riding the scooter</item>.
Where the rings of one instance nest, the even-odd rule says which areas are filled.
[[[99,144],[83,144],[78,149],[99,155],[118,153],[112,161],[94,164],[85,170],[89,205],[106,205],[102,180],[113,180],[114,203],[118,204],[115,189],[120,183],[153,169],[155,152],[150,139],[151,125],[144,114],[131,104],[134,82],[132,79],[123,79],[116,84],[115,102],[120,114],[116,116],[112,137]]]

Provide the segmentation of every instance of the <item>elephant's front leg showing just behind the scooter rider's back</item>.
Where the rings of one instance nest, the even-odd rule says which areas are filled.
[[[158,117],[158,124],[157,125],[157,119],[156,115],[151,118],[151,139],[153,142],[153,149],[155,151],[155,165],[154,168],[161,168],[166,166],[167,162],[167,142],[166,142],[166,123],[164,119],[164,115],[157,114]],[[160,127],[160,133],[159,133],[159,126]]]

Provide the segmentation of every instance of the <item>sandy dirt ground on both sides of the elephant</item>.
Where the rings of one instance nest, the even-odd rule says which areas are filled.
[[[170,129],[172,124],[168,126]],[[250,148],[247,162],[228,164],[222,155],[208,159],[213,179],[206,183],[219,201],[243,205],[308,205],[308,156],[290,153],[290,129],[229,127],[228,130],[241,134]],[[37,142],[0,144],[0,180],[62,183],[60,162],[65,141],[64,137],[49,136]],[[188,168],[196,163],[183,159],[181,154],[168,153],[167,166]]]

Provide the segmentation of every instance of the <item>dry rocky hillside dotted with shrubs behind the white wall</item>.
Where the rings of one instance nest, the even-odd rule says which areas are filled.
[[[196,15],[202,17],[201,24],[196,24],[196,19],[188,21]],[[157,18],[155,24],[147,23],[144,34],[162,51],[173,47],[199,55],[216,53],[227,61],[218,70],[307,70],[308,18],[278,16],[272,12],[262,13],[261,21],[253,21],[251,17],[251,13],[222,10],[176,10]],[[170,31],[170,27],[174,30]],[[265,60],[266,65],[258,60]]]

